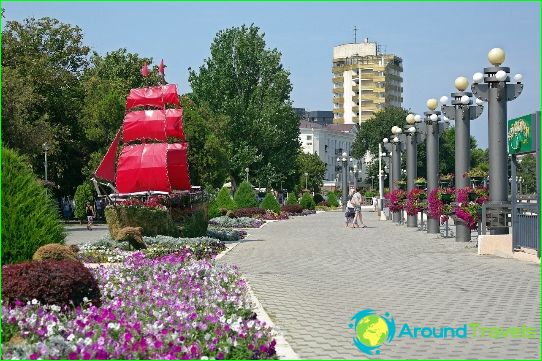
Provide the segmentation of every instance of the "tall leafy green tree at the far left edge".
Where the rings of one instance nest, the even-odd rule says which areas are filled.
[[[47,143],[49,179],[67,192],[80,183],[87,154],[79,118],[88,52],[81,29],[57,19],[8,21],[2,30],[4,144],[43,174]]]

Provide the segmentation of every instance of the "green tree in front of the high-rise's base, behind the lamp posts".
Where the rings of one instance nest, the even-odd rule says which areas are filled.
[[[386,107],[366,122],[361,123],[352,144],[352,155],[361,159],[367,151],[378,154],[378,144],[382,139],[389,138],[391,127],[405,124],[408,111],[397,107]]]

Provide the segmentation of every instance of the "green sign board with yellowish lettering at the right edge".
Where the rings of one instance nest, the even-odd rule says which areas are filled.
[[[508,120],[508,153],[521,154],[535,151],[535,114]]]

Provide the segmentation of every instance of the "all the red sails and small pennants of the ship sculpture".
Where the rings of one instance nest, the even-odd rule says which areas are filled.
[[[164,75],[163,61],[159,72]],[[141,73],[149,74],[147,64]],[[131,89],[122,127],[95,175],[120,194],[189,191],[187,150],[177,86]]]

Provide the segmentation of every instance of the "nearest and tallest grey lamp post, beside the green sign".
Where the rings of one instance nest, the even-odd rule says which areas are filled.
[[[523,76],[516,74],[516,84],[509,84],[510,68],[501,67],[505,53],[494,48],[487,54],[493,65],[484,68],[484,74],[475,73],[471,90],[474,96],[487,102],[489,133],[489,204],[508,203],[508,150],[507,150],[507,104],[516,99],[523,90]],[[482,83],[483,82],[483,83]],[[508,234],[502,224],[490,229],[490,234]]]

